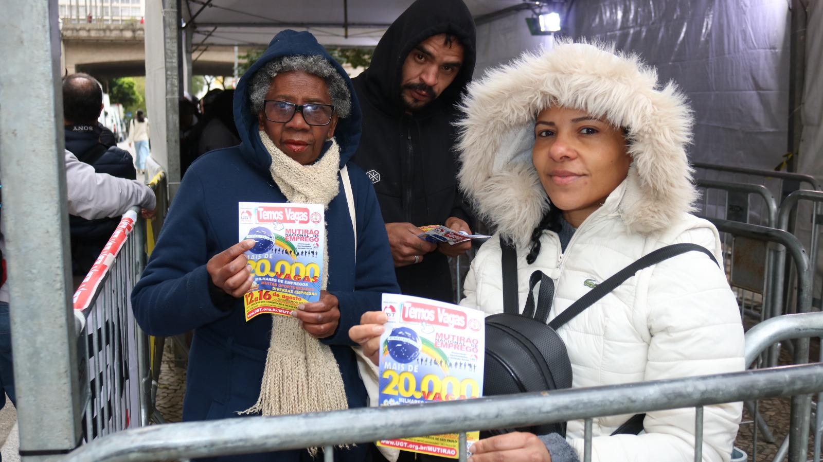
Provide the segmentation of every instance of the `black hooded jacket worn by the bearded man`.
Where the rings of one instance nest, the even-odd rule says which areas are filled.
[[[463,66],[436,100],[407,114],[400,91],[402,65],[417,44],[444,33],[463,45]],[[474,20],[462,0],[417,0],[386,30],[370,68],[354,79],[363,135],[352,160],[370,176],[384,222],[444,225],[458,217],[472,225],[457,188],[452,123],[458,119],[455,104],[472,79],[475,56]],[[448,259],[438,251],[395,273],[404,294],[453,301]]]

